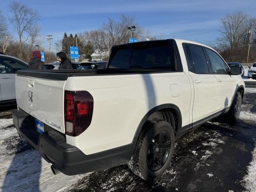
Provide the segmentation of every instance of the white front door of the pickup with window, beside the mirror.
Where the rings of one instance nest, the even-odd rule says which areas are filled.
[[[228,74],[228,68],[222,58],[213,50],[204,48],[212,73],[217,79],[218,96],[216,102],[216,111],[223,110],[231,105],[232,97],[235,91],[235,80]]]

